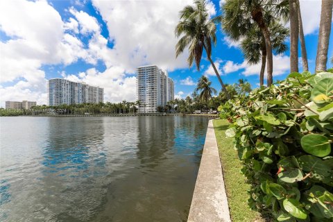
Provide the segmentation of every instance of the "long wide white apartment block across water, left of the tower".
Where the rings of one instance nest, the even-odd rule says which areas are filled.
[[[52,78],[47,83],[49,105],[103,103],[104,89],[76,83],[62,78]]]

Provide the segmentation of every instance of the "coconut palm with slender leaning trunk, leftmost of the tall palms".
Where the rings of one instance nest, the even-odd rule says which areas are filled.
[[[187,62],[189,67],[192,66],[194,60],[196,68],[200,71],[200,60],[205,49],[207,58],[210,60],[214,72],[219,79],[222,89],[225,91],[225,85],[212,61],[212,44],[216,45],[216,24],[215,19],[210,19],[205,0],[194,1],[194,6],[185,6],[180,11],[180,22],[178,22],[175,34],[180,37],[176,44],[176,58],[189,47],[189,58]],[[225,91],[226,94],[228,92]]]

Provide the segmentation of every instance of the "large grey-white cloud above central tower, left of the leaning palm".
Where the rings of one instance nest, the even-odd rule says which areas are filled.
[[[187,67],[185,52],[176,59],[174,28],[186,1],[93,0],[108,26],[114,48],[103,53],[107,62],[134,72],[139,65],[155,64],[172,71]],[[107,55],[107,57],[105,57]]]

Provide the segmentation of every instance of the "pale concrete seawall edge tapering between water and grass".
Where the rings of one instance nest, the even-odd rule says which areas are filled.
[[[207,128],[188,222],[231,222],[213,121]]]

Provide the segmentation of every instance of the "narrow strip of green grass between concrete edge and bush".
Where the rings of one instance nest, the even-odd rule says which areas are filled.
[[[225,189],[227,191],[231,219],[233,222],[253,222],[264,221],[258,212],[248,207],[249,185],[245,182],[245,177],[240,173],[241,162],[234,150],[232,138],[225,137],[225,130],[228,129],[228,121],[216,119],[213,121],[214,130],[219,146],[221,164],[223,168],[223,177]]]

